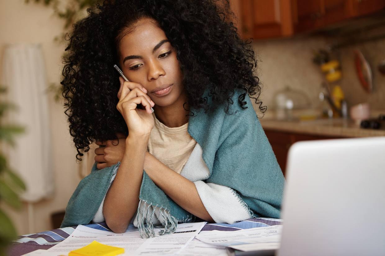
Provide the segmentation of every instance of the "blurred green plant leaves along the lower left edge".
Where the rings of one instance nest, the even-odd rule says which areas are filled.
[[[0,85],[0,94],[7,92],[5,86]],[[18,125],[3,124],[5,112],[17,110],[17,106],[10,102],[0,101],[0,142],[15,147],[14,136],[24,133],[24,127]],[[25,191],[25,184],[20,177],[7,165],[7,159],[0,151],[0,202],[20,210],[22,203],[18,194]],[[17,232],[10,218],[0,208],[0,256],[6,255],[5,250],[10,242],[17,238]]]

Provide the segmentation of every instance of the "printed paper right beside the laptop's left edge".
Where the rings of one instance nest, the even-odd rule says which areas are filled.
[[[237,231],[217,231],[213,234],[199,234],[199,240],[215,245],[231,247],[241,251],[278,249],[282,225],[249,228]]]

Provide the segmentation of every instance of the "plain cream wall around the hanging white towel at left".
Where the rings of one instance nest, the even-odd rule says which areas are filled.
[[[64,51],[64,46],[54,43],[53,38],[62,31],[64,21],[55,17],[51,8],[45,7],[42,3],[36,4],[34,1],[25,4],[24,0],[0,0],[0,7],[0,63],[2,63],[3,51],[7,43],[41,43],[47,82],[48,84],[58,84],[62,67],[60,57]],[[75,162],[76,150],[69,135],[64,108],[62,102],[56,103],[53,98],[53,94],[49,94],[55,195],[50,200],[44,200],[33,205],[35,217],[33,230],[28,230],[26,205],[20,212],[7,208],[20,235],[52,229],[50,214],[65,209],[80,180],[79,164]]]

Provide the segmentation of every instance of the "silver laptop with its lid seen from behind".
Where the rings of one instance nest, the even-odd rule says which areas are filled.
[[[385,137],[297,142],[278,256],[385,255]]]

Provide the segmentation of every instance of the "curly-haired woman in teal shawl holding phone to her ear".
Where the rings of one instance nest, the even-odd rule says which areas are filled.
[[[284,178],[248,97],[260,92],[256,61],[228,10],[115,0],[75,24],[65,113],[77,158],[95,140],[100,148],[62,226],[105,221],[123,233],[131,221],[149,237],[154,224],[166,234],[196,218],[279,218]]]

